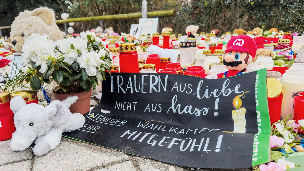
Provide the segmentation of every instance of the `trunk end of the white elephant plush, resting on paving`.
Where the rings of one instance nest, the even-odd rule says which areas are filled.
[[[26,134],[22,130],[16,130],[12,134],[10,149],[13,151],[23,151],[33,143],[36,137],[37,136],[35,134]]]

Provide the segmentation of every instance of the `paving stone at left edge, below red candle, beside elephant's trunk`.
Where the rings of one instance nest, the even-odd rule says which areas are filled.
[[[2,166],[4,163],[32,159],[33,153],[31,148],[27,148],[21,152],[15,152],[9,148],[10,142],[10,139],[6,141],[0,141],[0,166]]]

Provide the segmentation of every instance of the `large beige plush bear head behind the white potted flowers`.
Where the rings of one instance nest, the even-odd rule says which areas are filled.
[[[12,23],[10,36],[16,52],[22,53],[22,46],[33,33],[49,35],[49,39],[57,41],[63,39],[60,29],[55,22],[55,12],[47,7],[40,7],[33,11],[20,12]]]

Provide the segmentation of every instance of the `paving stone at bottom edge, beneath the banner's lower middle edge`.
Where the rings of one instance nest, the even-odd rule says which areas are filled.
[[[138,157],[138,156],[132,156],[132,157],[133,157],[133,159],[135,159],[136,164],[138,165],[139,169],[142,171],[144,171],[144,170],[168,171],[170,166],[174,167],[175,171],[191,170],[191,168],[188,168],[188,167],[175,166],[175,165],[159,162],[159,161],[156,161],[153,159],[143,159],[143,157]],[[171,167],[171,169],[172,169],[172,167]]]

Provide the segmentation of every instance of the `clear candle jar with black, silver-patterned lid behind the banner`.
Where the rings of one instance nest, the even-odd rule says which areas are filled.
[[[195,40],[184,40],[180,43],[181,57],[180,63],[182,68],[187,68],[195,64],[195,51],[196,42]]]

